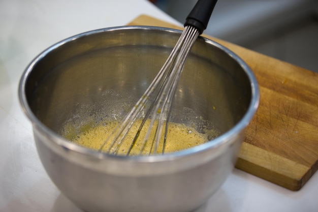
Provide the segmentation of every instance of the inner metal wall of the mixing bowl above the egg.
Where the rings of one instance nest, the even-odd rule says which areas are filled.
[[[25,95],[36,118],[72,139],[87,127],[121,118],[163,66],[180,33],[163,28],[89,32],[43,52]],[[224,134],[246,114],[252,98],[248,70],[224,47],[199,38],[186,60],[171,120]]]

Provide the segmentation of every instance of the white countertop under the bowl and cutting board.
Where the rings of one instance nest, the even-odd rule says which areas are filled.
[[[81,211],[46,174],[17,88],[24,68],[48,46],[92,29],[125,25],[140,14],[179,24],[146,0],[0,0],[0,211]],[[234,169],[198,209],[318,211],[318,174],[298,192]]]

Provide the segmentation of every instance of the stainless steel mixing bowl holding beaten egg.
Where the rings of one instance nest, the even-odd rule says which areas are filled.
[[[120,157],[60,136],[66,124],[80,130],[128,111],[179,36],[160,27],[98,29],[49,47],[23,73],[19,98],[33,123],[40,159],[56,187],[80,208],[189,211],[231,173],[258,107],[259,87],[237,55],[201,37],[187,59],[173,120],[213,123],[219,137],[169,155]]]

